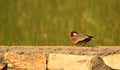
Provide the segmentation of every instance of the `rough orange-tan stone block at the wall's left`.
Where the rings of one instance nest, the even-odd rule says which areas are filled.
[[[19,55],[6,53],[4,61],[9,69],[14,70],[46,70],[46,56],[44,54]]]

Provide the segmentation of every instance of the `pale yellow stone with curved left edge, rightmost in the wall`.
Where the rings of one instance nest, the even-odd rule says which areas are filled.
[[[113,69],[120,69],[120,54],[113,54],[102,57],[105,64]]]

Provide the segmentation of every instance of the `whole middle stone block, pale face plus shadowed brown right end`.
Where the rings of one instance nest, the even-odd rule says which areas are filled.
[[[49,70],[112,70],[99,56],[50,53]]]

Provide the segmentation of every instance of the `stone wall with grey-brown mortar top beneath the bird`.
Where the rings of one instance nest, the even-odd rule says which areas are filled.
[[[120,70],[120,47],[1,46],[0,70]]]

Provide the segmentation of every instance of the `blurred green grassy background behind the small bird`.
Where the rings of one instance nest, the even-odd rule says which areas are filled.
[[[120,45],[120,0],[0,0],[0,45],[74,45],[71,31]]]

